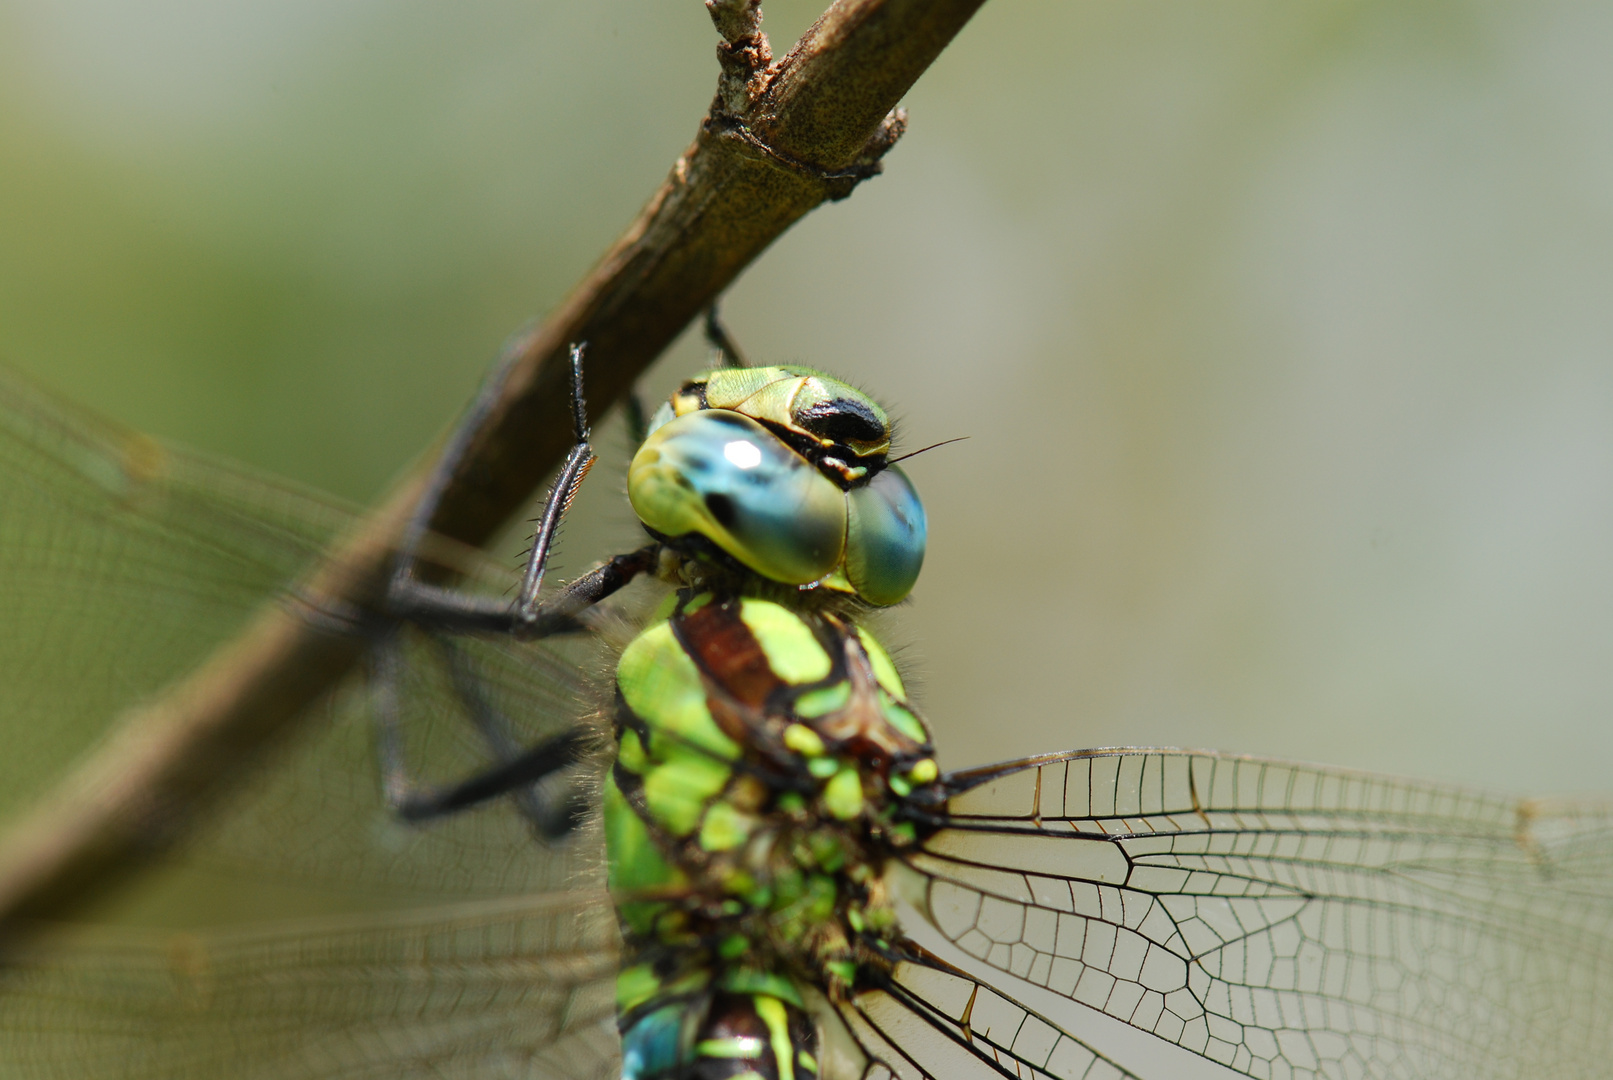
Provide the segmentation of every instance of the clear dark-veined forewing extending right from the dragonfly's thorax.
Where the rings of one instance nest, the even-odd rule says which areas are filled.
[[[931,998],[974,977],[1050,1053],[1058,1033],[1148,1077],[1605,1075],[1605,804],[1181,751],[948,780],[905,883],[915,940],[966,972]]]

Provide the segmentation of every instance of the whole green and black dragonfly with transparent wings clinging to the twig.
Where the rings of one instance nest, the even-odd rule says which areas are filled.
[[[794,390],[756,401],[758,379]],[[819,408],[792,411],[803,387]],[[366,630],[368,679],[200,825],[160,903],[42,928],[5,957],[5,1075],[1602,1074],[1607,804],[1179,750],[936,771],[858,619],[921,561],[902,543],[921,538],[918,495],[881,422],[819,372],[716,368],[660,409],[655,459],[634,463],[665,495],[669,459],[777,455],[789,471],[795,455],[808,493],[781,505],[831,516],[887,476],[868,558],[631,482],[653,559],[615,595],[610,561],[540,600],[544,529],[519,580],[434,556],[463,574],[452,596],[405,559],[405,600]],[[587,458],[577,427],[545,519]],[[118,706],[286,603],[352,514],[15,376],[0,485],[13,806]],[[734,527],[673,545],[686,511]],[[563,632],[503,632],[523,604]],[[724,642],[745,663],[723,667]],[[677,672],[694,661],[703,708]],[[700,727],[756,685],[761,704]],[[489,762],[526,771],[489,783]],[[694,800],[686,769],[706,777]],[[758,837],[774,861],[734,856]]]

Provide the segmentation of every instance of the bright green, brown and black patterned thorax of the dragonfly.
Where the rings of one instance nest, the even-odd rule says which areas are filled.
[[[834,614],[682,592],[624,650],[618,692],[605,822],[636,961],[629,1053],[665,1041],[674,1016],[771,1014],[782,1032],[797,982],[831,998],[877,982],[895,933],[887,862],[919,840],[903,808],[937,777],[877,642]],[[703,1043],[681,1045],[689,1065]]]

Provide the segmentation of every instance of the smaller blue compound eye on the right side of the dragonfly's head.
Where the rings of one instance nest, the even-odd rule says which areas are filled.
[[[894,604],[924,566],[924,505],[897,466],[847,492],[845,577],[871,604]]]

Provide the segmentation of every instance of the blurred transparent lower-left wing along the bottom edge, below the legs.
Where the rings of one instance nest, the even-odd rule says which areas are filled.
[[[0,1074],[619,1074],[608,898],[560,893],[213,933],[47,933],[0,967]]]

